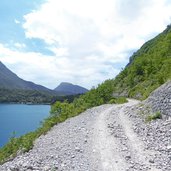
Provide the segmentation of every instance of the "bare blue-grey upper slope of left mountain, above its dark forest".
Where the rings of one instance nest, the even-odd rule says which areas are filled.
[[[46,87],[19,78],[16,74],[10,71],[2,62],[0,62],[0,88],[52,92]]]

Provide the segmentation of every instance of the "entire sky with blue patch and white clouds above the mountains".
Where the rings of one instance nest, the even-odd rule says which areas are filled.
[[[90,89],[169,24],[170,0],[1,0],[0,61],[51,89]]]

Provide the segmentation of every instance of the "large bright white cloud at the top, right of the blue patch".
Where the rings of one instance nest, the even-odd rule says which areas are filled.
[[[140,37],[165,27],[170,10],[165,0],[48,0],[24,16],[23,27],[28,38],[67,48],[81,43],[86,49],[87,44],[94,47],[99,41],[109,43],[118,37],[122,44],[133,39],[138,47],[144,41]]]

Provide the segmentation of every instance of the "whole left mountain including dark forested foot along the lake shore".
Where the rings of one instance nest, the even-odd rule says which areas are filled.
[[[53,103],[65,99],[73,101],[74,97],[25,81],[0,62],[0,103]]]

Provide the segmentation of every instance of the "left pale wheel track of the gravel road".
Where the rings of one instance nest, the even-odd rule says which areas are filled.
[[[109,115],[114,107],[102,112],[95,123],[95,139],[93,144],[100,153],[101,166],[104,171],[124,171],[127,163],[117,152],[119,148],[116,140],[108,130],[106,116]]]

